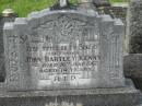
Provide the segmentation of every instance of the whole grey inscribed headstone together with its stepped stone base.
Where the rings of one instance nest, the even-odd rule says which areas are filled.
[[[129,87],[123,78],[125,34],[120,20],[99,15],[93,9],[46,9],[5,23],[3,33],[7,56],[3,95],[14,98],[1,94],[2,105],[141,104],[141,93]]]

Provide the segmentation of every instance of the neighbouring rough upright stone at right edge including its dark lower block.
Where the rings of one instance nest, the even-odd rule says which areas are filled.
[[[126,75],[142,90],[142,1],[130,0],[125,57]]]

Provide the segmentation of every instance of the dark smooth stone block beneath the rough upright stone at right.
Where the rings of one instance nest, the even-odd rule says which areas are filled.
[[[131,78],[135,87],[142,91],[142,54],[130,54],[123,58],[125,75]]]

